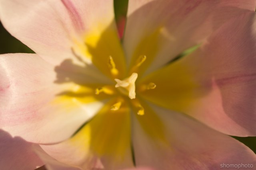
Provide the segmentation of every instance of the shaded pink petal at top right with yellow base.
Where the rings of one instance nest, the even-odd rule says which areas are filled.
[[[255,0],[130,0],[124,49],[131,67],[152,72],[184,50],[202,43],[230,18],[250,10]],[[151,65],[152,64],[152,65]]]

